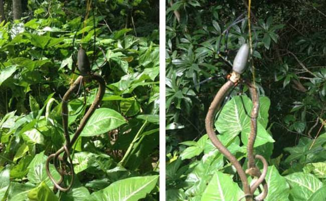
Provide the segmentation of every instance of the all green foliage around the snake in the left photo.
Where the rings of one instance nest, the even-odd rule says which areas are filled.
[[[158,200],[157,3],[96,1],[85,23],[86,1],[30,0],[15,22],[10,6],[0,25],[0,200]],[[107,89],[73,145],[73,188],[54,192],[45,162],[65,143],[61,97],[78,76],[79,45]],[[70,100],[71,135],[97,90],[86,81]]]

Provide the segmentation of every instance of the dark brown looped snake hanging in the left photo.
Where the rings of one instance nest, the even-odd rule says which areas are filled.
[[[86,112],[86,114],[84,115],[82,120],[80,121],[80,125],[78,126],[72,139],[70,139],[69,132],[68,132],[68,115],[62,115],[62,124],[63,124],[64,137],[66,139],[66,144],[63,147],[61,147],[56,153],[49,155],[49,157],[47,158],[47,161],[46,161],[46,172],[47,172],[49,178],[51,179],[51,181],[54,183],[55,187],[61,191],[68,191],[72,187],[73,182],[74,182],[74,167],[73,167],[73,163],[72,163],[72,159],[71,159],[69,150],[71,149],[71,146],[77,141],[79,135],[83,131],[84,127],[86,126],[87,121],[92,116],[92,114],[95,112],[96,108],[99,106],[99,104],[104,96],[104,93],[105,93],[106,83],[101,75],[96,74],[96,73],[89,73],[87,76],[90,76],[90,78],[92,80],[96,80],[99,83],[99,89],[95,96],[94,102],[92,103],[92,105],[90,106],[90,108],[88,109],[88,111]],[[69,114],[68,113],[69,97],[75,90],[77,90],[79,88],[80,82],[82,82],[82,81],[83,81],[83,76],[78,76],[78,78],[75,80],[75,82],[71,85],[71,87],[67,90],[67,92],[63,96],[63,98],[62,98],[62,113],[63,114]],[[63,153],[63,156],[61,157],[60,154],[62,154],[62,153]],[[52,173],[50,172],[49,164],[50,164],[50,161],[52,158],[53,158],[54,166],[55,166],[57,172],[60,174],[59,181],[56,181],[54,179]],[[68,158],[68,161],[67,161],[67,158]],[[59,168],[59,162],[61,162],[61,169]],[[68,163],[68,165],[67,165],[67,163]],[[64,175],[67,174],[64,171],[64,169],[65,169],[64,164],[66,164],[69,167],[70,172],[71,172],[71,181],[66,188],[64,188],[60,185],[63,182]]]

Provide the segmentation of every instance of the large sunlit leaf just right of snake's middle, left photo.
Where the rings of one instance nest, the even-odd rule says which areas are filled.
[[[100,108],[88,120],[81,136],[100,135],[126,123],[124,118],[116,111],[108,108]]]

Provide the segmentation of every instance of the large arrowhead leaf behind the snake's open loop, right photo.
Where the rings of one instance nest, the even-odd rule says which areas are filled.
[[[215,122],[215,126],[219,133],[230,136],[237,136],[241,132],[241,141],[244,145],[248,144],[250,134],[250,111],[252,108],[251,100],[247,96],[242,96],[244,104],[242,104],[240,96],[233,97],[222,109],[222,112]],[[263,100],[263,103],[267,100]],[[245,109],[243,107],[245,106]],[[263,111],[260,112],[260,117],[257,121],[257,138],[255,147],[263,145],[267,142],[275,142],[273,138],[267,133],[264,126],[260,123],[266,124],[266,107],[260,107]],[[245,110],[248,115],[246,115]]]

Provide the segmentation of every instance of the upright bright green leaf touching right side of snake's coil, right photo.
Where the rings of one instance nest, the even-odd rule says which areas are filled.
[[[266,201],[288,201],[289,185],[286,179],[282,177],[275,166],[269,166],[266,182],[268,186],[268,194],[264,199]]]

